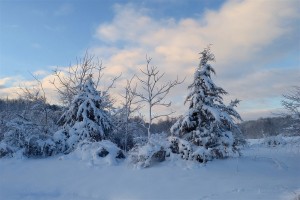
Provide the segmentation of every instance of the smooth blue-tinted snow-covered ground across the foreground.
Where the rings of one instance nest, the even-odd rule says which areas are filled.
[[[251,140],[239,158],[206,165],[164,162],[134,169],[77,156],[0,159],[0,199],[300,199],[300,138],[267,147]]]

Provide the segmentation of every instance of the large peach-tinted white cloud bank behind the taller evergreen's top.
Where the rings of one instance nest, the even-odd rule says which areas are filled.
[[[137,69],[143,67],[148,54],[153,57],[153,64],[167,73],[167,78],[174,79],[177,74],[186,76],[185,84],[171,94],[173,99],[182,102],[185,96],[182,94],[187,92],[186,86],[191,83],[198,64],[197,52],[213,43],[218,74],[215,80],[231,93],[226,100],[253,101],[260,109],[266,104],[260,104],[257,99],[278,98],[286,88],[299,84],[299,63],[289,66],[289,70],[286,66],[265,67],[270,63],[266,57],[272,62],[275,56],[285,59],[283,55],[293,53],[293,49],[299,51],[295,42],[300,39],[297,4],[296,0],[233,0],[217,11],[207,10],[202,18],[180,20],[154,19],[149,15],[151,10],[133,4],[117,5],[114,19],[101,24],[96,37],[107,47],[114,46],[113,54],[104,56],[105,64],[113,73],[138,73]],[[294,41],[288,39],[291,37]],[[120,43],[122,47],[116,49]],[[278,46],[272,49],[275,43]],[[98,53],[101,57],[101,51]],[[270,105],[267,109],[273,108]],[[251,112],[251,116],[254,112],[262,113],[243,107],[240,110],[245,115]]]

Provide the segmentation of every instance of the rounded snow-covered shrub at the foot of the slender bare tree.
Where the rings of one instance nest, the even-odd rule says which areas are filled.
[[[170,155],[170,142],[164,134],[152,134],[144,145],[137,145],[129,151],[129,162],[137,168],[149,167],[162,162]]]

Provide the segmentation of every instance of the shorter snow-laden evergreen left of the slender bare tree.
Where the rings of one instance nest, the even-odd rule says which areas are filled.
[[[109,103],[108,95],[96,90],[92,76],[78,87],[78,94],[58,122],[63,129],[54,136],[61,151],[66,153],[74,150],[81,141],[106,139],[113,128],[111,116],[105,110]]]

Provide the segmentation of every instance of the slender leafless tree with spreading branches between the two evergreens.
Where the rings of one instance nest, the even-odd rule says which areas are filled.
[[[143,78],[137,76],[141,87],[142,92],[135,92],[135,95],[140,98],[140,102],[145,102],[148,106],[148,140],[151,135],[151,125],[153,120],[163,117],[169,116],[174,112],[169,112],[165,114],[153,114],[153,108],[157,106],[169,107],[171,106],[171,102],[166,102],[165,97],[169,94],[170,90],[178,84],[181,84],[184,80],[179,81],[178,77],[175,81],[169,81],[164,84],[160,84],[161,79],[165,75],[165,73],[160,73],[157,67],[150,66],[151,58],[146,57],[147,65],[146,71],[141,70],[144,75]]]

